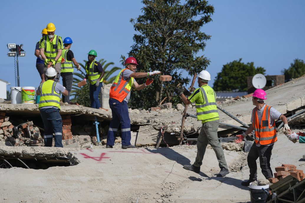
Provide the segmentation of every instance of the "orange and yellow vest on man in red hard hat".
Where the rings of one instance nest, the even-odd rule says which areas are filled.
[[[118,100],[119,102],[122,102],[127,94],[131,90],[131,86],[133,84],[133,78],[128,78],[127,80],[124,80],[123,72],[127,70],[127,68],[122,69],[115,80],[112,83],[112,86],[110,88],[109,98],[113,98]]]

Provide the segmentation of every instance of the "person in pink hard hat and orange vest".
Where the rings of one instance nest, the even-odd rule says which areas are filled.
[[[287,118],[273,107],[264,103],[264,100],[267,99],[264,90],[257,89],[252,96],[253,105],[256,106],[252,110],[252,124],[242,135],[236,135],[238,139],[235,140],[235,143],[242,142],[254,130],[254,143],[247,157],[250,175],[249,180],[242,182],[243,186],[249,186],[251,182],[257,180],[257,158],[260,158],[260,168],[265,178],[273,177],[270,158],[273,144],[278,140],[274,120],[281,119],[284,122],[284,131],[290,130]]]

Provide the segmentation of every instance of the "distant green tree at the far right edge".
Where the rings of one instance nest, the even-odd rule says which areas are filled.
[[[282,70],[282,74],[285,75],[285,81],[289,81],[292,78],[298,78],[305,74],[305,63],[301,59],[294,59],[289,68]]]

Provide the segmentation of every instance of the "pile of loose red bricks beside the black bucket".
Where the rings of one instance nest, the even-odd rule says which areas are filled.
[[[275,167],[275,171],[274,178],[268,179],[270,183],[276,183],[289,175],[295,177],[299,181],[303,180],[305,177],[303,170],[297,170],[295,165],[282,164],[282,166]]]

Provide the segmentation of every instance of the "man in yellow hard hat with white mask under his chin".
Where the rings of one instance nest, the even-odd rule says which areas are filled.
[[[46,30],[48,34],[40,40],[40,55],[44,60],[45,70],[49,67],[55,68],[57,74],[54,80],[59,82],[63,41],[60,36],[55,34],[56,28],[53,23],[49,23]]]

